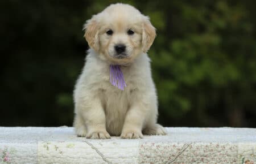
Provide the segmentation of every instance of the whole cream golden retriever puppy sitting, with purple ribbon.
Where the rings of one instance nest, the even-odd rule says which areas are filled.
[[[158,101],[146,54],[156,33],[149,18],[117,3],[93,15],[84,29],[90,49],[74,90],[77,136],[166,135],[156,123]]]

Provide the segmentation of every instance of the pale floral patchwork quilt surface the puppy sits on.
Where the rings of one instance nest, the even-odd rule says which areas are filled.
[[[138,140],[90,140],[71,127],[0,127],[0,163],[256,163],[255,128],[166,131]]]

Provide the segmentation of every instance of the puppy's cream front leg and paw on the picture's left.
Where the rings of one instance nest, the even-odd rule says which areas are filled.
[[[93,98],[90,101],[82,101],[78,107],[86,126],[86,138],[110,139],[106,131],[106,116],[100,100]]]

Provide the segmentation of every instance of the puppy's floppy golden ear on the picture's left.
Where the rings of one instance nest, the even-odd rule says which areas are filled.
[[[99,40],[98,40],[98,23],[94,18],[89,19],[84,24],[84,37],[86,41],[88,42],[88,45],[90,48],[93,48],[94,50],[98,51],[99,48]]]

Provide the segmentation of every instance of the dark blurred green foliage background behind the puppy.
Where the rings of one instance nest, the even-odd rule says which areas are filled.
[[[115,2],[0,1],[0,126],[72,126],[82,25]],[[157,29],[149,55],[159,123],[256,127],[255,1],[118,2]]]

